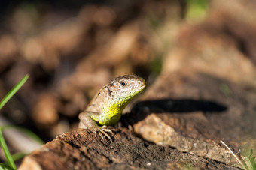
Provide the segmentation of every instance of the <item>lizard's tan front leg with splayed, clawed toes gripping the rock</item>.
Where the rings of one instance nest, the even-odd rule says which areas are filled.
[[[108,135],[108,133],[111,133],[113,135],[112,131],[109,130],[105,125],[102,127],[99,127],[98,124],[96,124],[96,122],[93,121],[92,118],[90,118],[91,115],[99,116],[99,113],[87,112],[87,111],[81,112],[79,114],[80,123],[78,125],[78,128],[89,129],[94,133],[98,132],[99,136],[102,137],[103,141],[104,141],[103,135],[105,135],[112,142],[111,137]]]

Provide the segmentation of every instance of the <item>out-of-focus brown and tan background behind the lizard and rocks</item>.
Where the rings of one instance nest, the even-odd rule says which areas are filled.
[[[249,0],[0,1],[0,98],[30,75],[1,118],[47,142],[74,130],[96,91],[123,74],[150,86],[160,73],[190,67],[255,85],[255,7]]]

